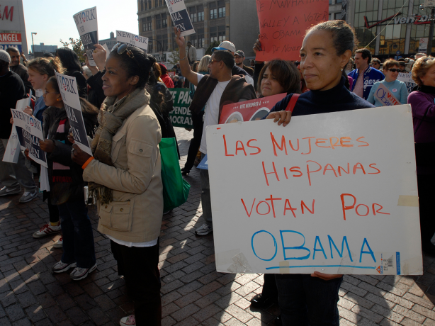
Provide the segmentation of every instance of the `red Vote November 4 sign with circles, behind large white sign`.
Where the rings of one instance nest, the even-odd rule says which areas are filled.
[[[271,108],[286,97],[286,93],[262,97],[244,102],[223,106],[219,123],[235,123],[239,121],[260,120],[271,111]]]

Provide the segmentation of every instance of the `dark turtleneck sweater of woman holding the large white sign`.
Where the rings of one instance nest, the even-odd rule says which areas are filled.
[[[288,94],[284,99],[273,106],[273,111],[284,111],[293,94]],[[306,91],[300,94],[292,116],[307,116],[310,114],[329,113],[337,111],[356,110],[358,108],[374,108],[372,103],[361,99],[344,86],[344,77],[340,83],[327,91]]]

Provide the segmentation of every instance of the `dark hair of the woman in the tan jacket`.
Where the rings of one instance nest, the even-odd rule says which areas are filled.
[[[127,50],[132,52],[134,57],[127,54]],[[138,76],[139,81],[137,87],[145,89],[149,79],[149,72],[151,72],[152,65],[157,60],[152,55],[147,55],[142,49],[135,46],[127,47],[127,50],[121,54],[115,49],[111,52],[109,57],[115,57],[120,60],[120,66],[127,72],[128,78]]]

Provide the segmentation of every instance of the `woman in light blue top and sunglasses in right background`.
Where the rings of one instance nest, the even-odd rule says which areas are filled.
[[[379,101],[379,96],[375,96],[379,85],[383,84],[383,86],[388,88],[392,96],[394,96],[397,101],[400,101],[401,104],[406,104],[408,97],[406,84],[403,81],[397,80],[400,72],[399,62],[391,59],[385,61],[383,65],[383,72],[385,74],[385,79],[382,81],[376,81],[375,84],[373,84],[370,94],[368,94],[367,101],[375,104],[375,106],[384,106],[383,102]]]

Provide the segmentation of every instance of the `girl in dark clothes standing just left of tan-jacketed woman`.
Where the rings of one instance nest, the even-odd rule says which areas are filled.
[[[62,258],[52,266],[52,271],[74,269],[69,275],[78,281],[96,269],[94,233],[84,203],[83,172],[71,159],[72,144],[67,140],[69,119],[55,76],[45,85],[44,100],[49,107],[44,111],[45,140],[40,140],[40,148],[47,152],[50,201],[59,209],[63,237]],[[98,110],[84,99],[80,103],[86,132],[90,134]]]

